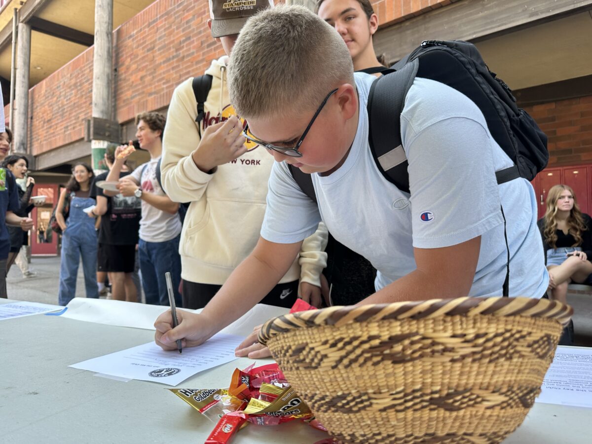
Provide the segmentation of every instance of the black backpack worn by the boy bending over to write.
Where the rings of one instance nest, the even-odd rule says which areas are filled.
[[[514,166],[496,171],[498,184],[519,177],[532,181],[549,160],[547,137],[526,111],[516,105],[510,88],[491,72],[477,48],[466,41],[426,40],[372,83],[368,96],[369,145],[378,169],[401,191],[409,192],[407,157],[401,144],[400,119],[405,97],[416,77],[451,86],[471,99],[487,121],[491,136]],[[303,192],[316,201],[311,176],[289,167]],[[503,208],[501,209],[503,215]],[[503,295],[509,294],[510,250]]]

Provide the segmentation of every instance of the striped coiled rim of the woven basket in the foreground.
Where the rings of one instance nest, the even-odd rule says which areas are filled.
[[[422,319],[439,316],[526,316],[556,319],[567,324],[574,309],[548,299],[527,297],[462,297],[404,301],[391,304],[336,305],[320,310],[298,311],[269,319],[263,324],[258,340],[267,345],[269,339],[289,330],[342,326],[378,320]]]

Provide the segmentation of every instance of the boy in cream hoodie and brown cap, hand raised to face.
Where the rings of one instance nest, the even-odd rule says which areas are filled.
[[[252,9],[233,11],[237,8],[226,2],[210,1],[208,26],[227,54],[247,18],[273,7],[269,0],[253,3]],[[192,79],[175,89],[163,140],[163,186],[173,200],[191,202],[180,249],[185,308],[204,307],[255,247],[274,163],[265,149],[245,143],[241,135],[243,123],[230,104],[226,84],[228,59],[214,60],[206,71],[212,81],[201,123],[196,124]],[[308,237],[279,282],[265,288],[261,302],[291,307],[300,279],[300,295],[320,303],[325,243],[322,230]]]

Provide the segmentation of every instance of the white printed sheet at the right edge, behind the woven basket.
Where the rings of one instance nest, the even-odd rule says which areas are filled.
[[[536,402],[592,408],[592,348],[557,348]]]

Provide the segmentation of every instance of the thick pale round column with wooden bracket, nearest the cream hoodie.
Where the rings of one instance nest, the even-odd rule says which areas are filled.
[[[111,120],[113,89],[113,0],[95,0],[95,45],[92,68],[92,117]],[[99,165],[107,147],[106,140],[91,141],[92,168],[104,170]]]

